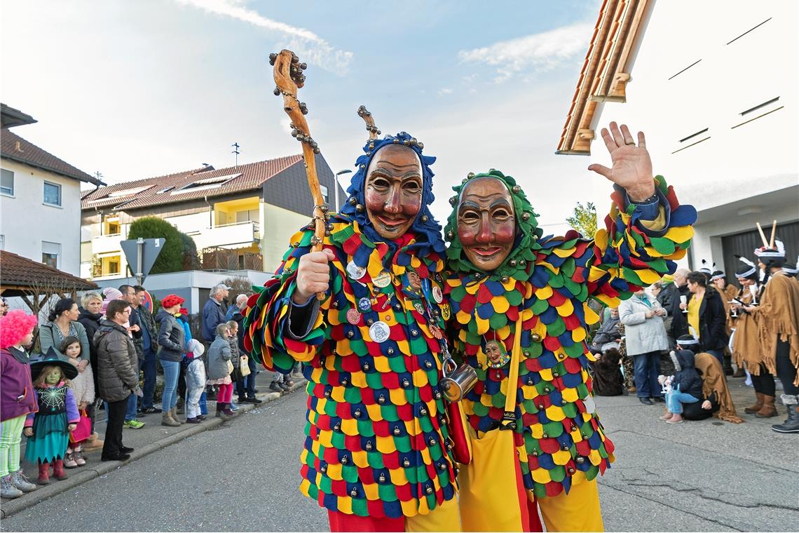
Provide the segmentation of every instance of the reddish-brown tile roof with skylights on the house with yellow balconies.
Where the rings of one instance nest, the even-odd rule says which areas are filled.
[[[239,193],[253,189],[260,189],[270,177],[283,172],[292,165],[297,165],[303,160],[302,154],[278,157],[267,161],[258,161],[246,165],[238,165],[227,169],[202,169],[185,170],[168,174],[166,176],[148,177],[143,180],[126,181],[117,185],[110,185],[93,191],[83,197],[81,209],[94,209],[113,205],[113,209],[143,209],[153,205],[173,204],[182,201],[197,200],[204,197],[217,197],[231,193]],[[198,181],[213,181],[213,178],[228,177],[220,187],[214,189],[185,189]],[[201,184],[199,184],[201,185]],[[144,188],[143,190],[137,190]],[[171,189],[170,189],[171,188]],[[158,191],[163,191],[158,193]],[[185,189],[185,192],[177,192]],[[119,196],[110,197],[113,193]]]

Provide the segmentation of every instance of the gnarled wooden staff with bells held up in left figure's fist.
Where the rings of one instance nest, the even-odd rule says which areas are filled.
[[[304,115],[308,114],[308,106],[297,100],[297,89],[305,85],[303,71],[308,68],[300,63],[300,58],[291,50],[280,50],[280,54],[269,54],[269,64],[275,67],[275,96],[283,95],[283,110],[292,119],[292,137],[302,143],[302,155],[305,161],[305,173],[308,174],[308,187],[313,197],[314,235],[311,238],[312,252],[320,252],[328,221],[328,205],[322,197],[319,177],[316,175],[316,153],[319,145],[311,137],[308,122]],[[324,292],[317,292],[316,298],[324,300]]]

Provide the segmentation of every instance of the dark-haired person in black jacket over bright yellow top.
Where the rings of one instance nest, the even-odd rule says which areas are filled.
[[[686,320],[696,330],[702,351],[710,353],[723,366],[724,347],[729,340],[724,302],[721,301],[718,291],[707,285],[707,277],[702,272],[690,272],[687,281],[691,296],[687,304],[680,304],[681,311],[683,308],[688,309]],[[694,312],[698,320],[694,320]],[[692,321],[695,324],[691,324]]]

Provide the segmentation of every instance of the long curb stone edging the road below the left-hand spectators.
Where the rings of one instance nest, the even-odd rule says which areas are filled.
[[[304,388],[308,382],[304,379],[296,380],[295,384],[292,385],[292,389],[289,392],[284,394],[291,394],[295,392],[299,388]],[[274,400],[280,398],[280,396],[284,396],[284,394],[280,394],[279,392],[268,392],[268,393],[260,393],[257,395],[259,400],[263,400],[261,404],[240,404],[239,410],[237,411],[239,414],[252,411],[252,409],[260,408],[264,404],[268,404]],[[83,483],[91,481],[92,479],[96,479],[103,475],[108,474],[110,471],[117,470],[118,468],[125,467],[125,465],[129,463],[133,463],[133,461],[137,461],[155,451],[159,451],[165,447],[171,446],[172,444],[177,444],[181,440],[188,439],[189,437],[199,435],[202,432],[207,432],[210,429],[217,428],[221,426],[225,422],[225,419],[221,418],[209,418],[202,424],[197,424],[192,428],[184,429],[181,432],[173,433],[172,435],[165,436],[162,439],[156,440],[153,443],[145,444],[145,446],[137,447],[135,451],[130,455],[130,459],[119,462],[119,461],[109,461],[108,463],[97,463],[96,466],[91,468],[81,468],[79,471],[70,471],[70,476],[67,479],[62,481],[55,481],[50,483],[49,485],[39,485],[35,491],[28,492],[25,495],[22,495],[15,499],[3,499],[2,500],[2,508],[0,508],[0,518],[6,519],[11,515],[17,514],[19,511],[24,511],[30,507],[34,507],[37,503],[42,503],[46,499],[53,498],[56,495],[61,494],[62,492],[69,491],[74,487],[79,487]]]

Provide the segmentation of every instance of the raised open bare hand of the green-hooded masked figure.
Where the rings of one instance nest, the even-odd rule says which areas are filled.
[[[630,129],[622,124],[610,122],[610,131],[602,128],[602,140],[605,141],[613,168],[603,165],[590,165],[589,170],[601,174],[627,191],[630,201],[643,201],[654,194],[654,177],[652,160],[646,150],[646,137],[638,132],[638,145],[635,145]]]

